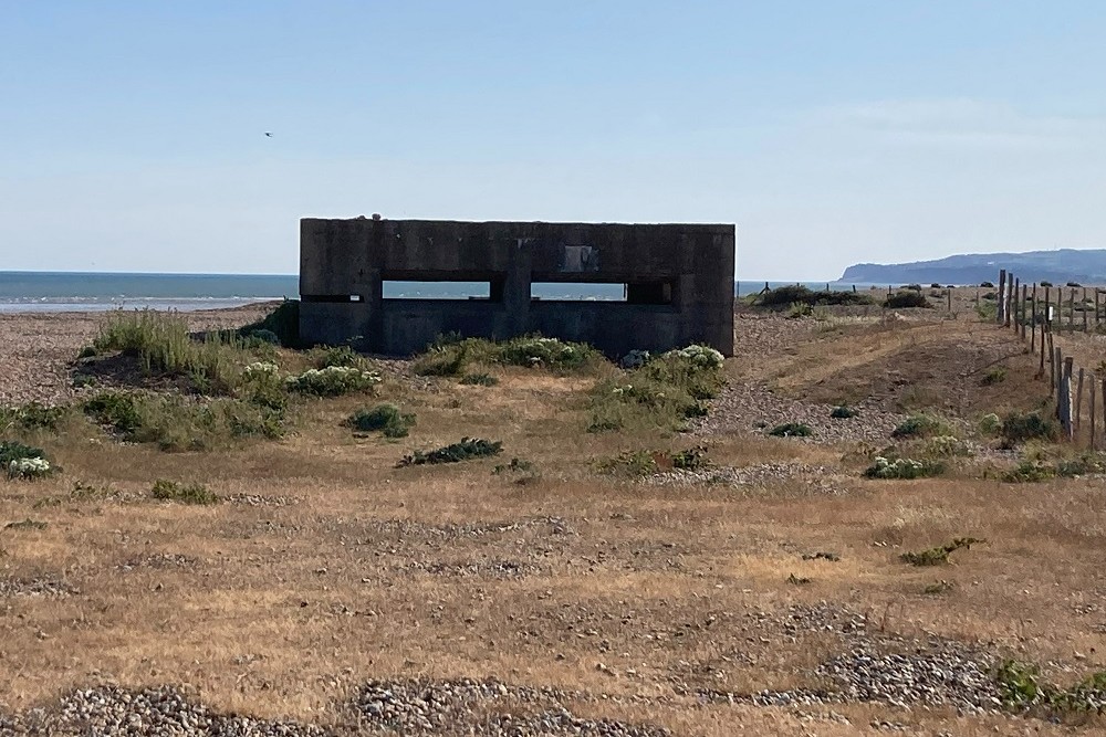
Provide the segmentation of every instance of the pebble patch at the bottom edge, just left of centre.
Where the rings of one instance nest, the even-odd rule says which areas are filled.
[[[372,682],[356,708],[371,734],[502,735],[504,737],[669,737],[662,727],[584,719],[564,706],[572,694],[494,681]],[[520,707],[538,714],[520,714]]]

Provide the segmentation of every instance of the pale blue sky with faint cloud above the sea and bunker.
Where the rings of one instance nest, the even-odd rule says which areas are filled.
[[[739,278],[821,280],[1104,203],[1102,0],[0,0],[0,270],[295,273],[379,212],[734,222]]]

